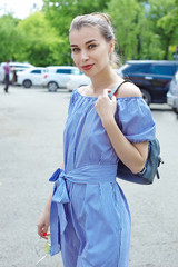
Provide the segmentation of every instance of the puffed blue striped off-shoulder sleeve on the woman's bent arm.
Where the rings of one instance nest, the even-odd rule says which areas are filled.
[[[156,127],[151,111],[140,97],[118,98],[116,121],[131,142],[155,139]]]

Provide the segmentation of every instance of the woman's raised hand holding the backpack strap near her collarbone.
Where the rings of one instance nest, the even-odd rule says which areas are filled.
[[[105,125],[105,121],[108,121],[110,119],[115,119],[116,113],[116,97],[113,96],[111,99],[108,97],[109,90],[105,89],[103,95],[99,96],[95,108],[97,110],[97,113],[99,115],[102,125]]]

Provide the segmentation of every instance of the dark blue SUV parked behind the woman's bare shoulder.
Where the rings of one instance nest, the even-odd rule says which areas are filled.
[[[177,69],[178,61],[130,60],[119,69],[119,75],[140,88],[148,105],[165,103],[169,83]]]

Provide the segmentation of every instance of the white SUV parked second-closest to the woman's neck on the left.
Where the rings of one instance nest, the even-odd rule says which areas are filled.
[[[80,76],[81,71],[73,66],[51,66],[47,67],[47,73],[43,76],[42,86],[49,91],[57,91],[58,88],[66,88],[69,75]]]

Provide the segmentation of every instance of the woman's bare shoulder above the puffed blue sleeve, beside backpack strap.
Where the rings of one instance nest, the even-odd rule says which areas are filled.
[[[117,91],[118,98],[125,98],[125,97],[142,97],[140,89],[134,85],[132,82],[125,82],[121,85],[119,90]]]

